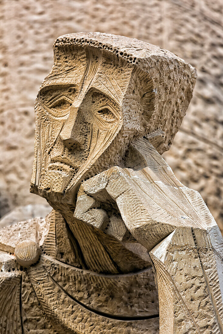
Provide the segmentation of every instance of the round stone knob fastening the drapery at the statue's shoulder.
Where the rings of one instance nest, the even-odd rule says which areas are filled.
[[[23,267],[28,267],[38,261],[40,254],[39,245],[31,240],[20,241],[15,247],[15,258]]]

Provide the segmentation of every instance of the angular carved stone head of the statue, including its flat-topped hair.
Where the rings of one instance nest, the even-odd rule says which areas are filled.
[[[73,203],[81,180],[125,166],[135,138],[165,134],[166,151],[192,98],[195,69],[137,39],[102,33],[59,37],[35,101],[31,192]],[[185,85],[185,81],[188,85]]]

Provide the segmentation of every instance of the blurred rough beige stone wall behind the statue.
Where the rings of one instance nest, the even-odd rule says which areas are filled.
[[[221,0],[3,0],[0,2],[0,216],[45,203],[29,194],[33,105],[60,35],[100,31],[166,48],[197,68],[194,97],[164,158],[198,190],[223,229]]]

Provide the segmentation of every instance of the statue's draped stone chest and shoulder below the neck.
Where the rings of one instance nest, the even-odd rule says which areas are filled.
[[[73,246],[66,233],[64,219],[54,210],[46,220],[0,230],[1,332],[157,334],[158,295],[148,256],[144,261],[113,239],[111,257],[121,247],[123,266],[132,263],[132,272],[83,270],[68,264]],[[31,246],[36,251],[38,245],[41,256],[33,262]],[[144,257],[146,253],[144,248]]]

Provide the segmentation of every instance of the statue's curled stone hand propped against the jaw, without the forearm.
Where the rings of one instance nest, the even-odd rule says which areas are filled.
[[[112,225],[120,226],[121,234],[127,228],[148,250],[175,229],[217,227],[201,195],[177,180],[148,141],[136,141],[133,146],[137,152],[146,152],[148,167],[135,171],[115,166],[84,181],[76,218],[109,233],[115,231]],[[116,214],[115,219],[114,211],[121,216]]]

